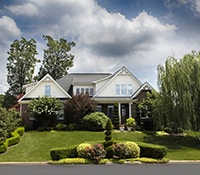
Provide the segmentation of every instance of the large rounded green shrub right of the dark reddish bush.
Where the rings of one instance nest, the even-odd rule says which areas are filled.
[[[102,112],[94,112],[83,117],[83,129],[89,131],[103,131],[105,130],[108,117]]]

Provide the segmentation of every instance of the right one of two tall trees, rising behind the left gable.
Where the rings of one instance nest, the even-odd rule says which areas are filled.
[[[47,41],[48,48],[44,50],[44,60],[35,79],[41,79],[47,73],[54,79],[59,79],[66,75],[68,69],[73,66],[74,55],[68,52],[75,46],[75,43],[67,42],[63,38],[59,41],[54,40],[48,35],[44,35],[43,38]]]

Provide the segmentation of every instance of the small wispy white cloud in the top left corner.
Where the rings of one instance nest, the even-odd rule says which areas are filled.
[[[6,6],[6,9],[16,15],[35,16],[39,13],[38,9],[30,3]]]

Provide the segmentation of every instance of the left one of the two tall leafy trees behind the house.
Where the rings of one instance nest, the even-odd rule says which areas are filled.
[[[8,52],[7,82],[10,85],[9,94],[16,96],[22,93],[22,87],[32,81],[35,65],[38,60],[35,55],[36,41],[34,39],[15,40]]]

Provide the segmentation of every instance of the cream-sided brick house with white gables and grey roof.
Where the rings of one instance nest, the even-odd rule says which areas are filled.
[[[25,86],[26,93],[19,100],[20,111],[25,123],[30,122],[27,105],[33,98],[51,96],[61,100],[80,93],[89,94],[97,102],[97,111],[113,117],[114,104],[118,104],[120,123],[136,115],[136,101],[146,97],[153,88],[142,83],[126,67],[110,73],[70,73],[55,81],[46,75],[37,83]]]

